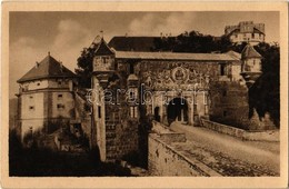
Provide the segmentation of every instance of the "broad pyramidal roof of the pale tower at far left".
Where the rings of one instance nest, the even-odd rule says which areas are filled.
[[[76,74],[68,68],[58,62],[53,57],[48,56],[40,62],[37,63],[31,70],[29,70],[21,79],[17,82],[31,81],[37,79],[49,79],[49,78],[73,78]]]

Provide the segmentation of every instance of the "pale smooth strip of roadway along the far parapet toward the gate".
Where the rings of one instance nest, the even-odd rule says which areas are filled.
[[[236,160],[236,163],[256,165],[256,167],[265,168],[269,172],[278,173],[280,170],[279,142],[242,141],[207,128],[186,126],[179,122],[173,122],[170,129],[185,132],[189,142],[209,150],[211,153],[222,153],[229,158],[228,161]]]

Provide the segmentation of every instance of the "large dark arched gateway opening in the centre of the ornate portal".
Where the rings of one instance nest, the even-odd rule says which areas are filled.
[[[188,102],[183,98],[173,98],[168,105],[168,123],[173,121],[188,122]]]

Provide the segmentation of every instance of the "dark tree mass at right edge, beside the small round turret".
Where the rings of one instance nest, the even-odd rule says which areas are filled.
[[[259,117],[266,112],[280,127],[280,48],[277,43],[259,43],[256,50],[262,56],[262,74],[249,89],[249,105]]]

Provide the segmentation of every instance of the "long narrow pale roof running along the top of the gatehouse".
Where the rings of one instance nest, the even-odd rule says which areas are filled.
[[[211,60],[238,61],[235,56],[227,53],[179,53],[179,52],[129,52],[116,51],[117,59],[146,59],[146,60]]]

